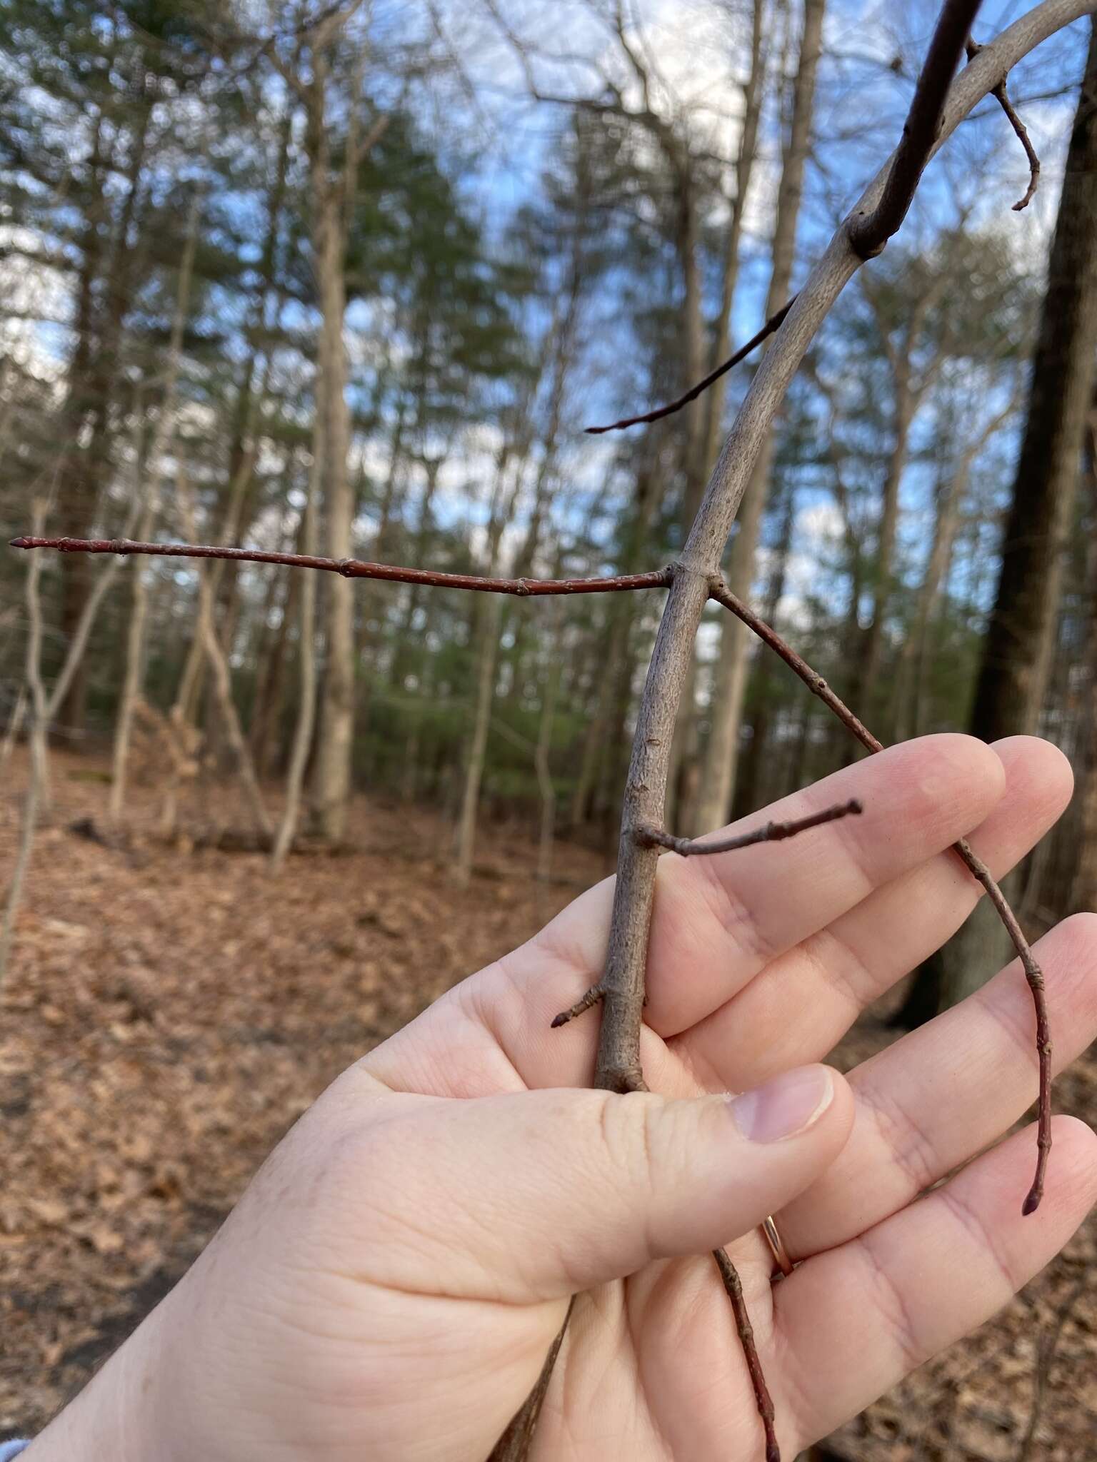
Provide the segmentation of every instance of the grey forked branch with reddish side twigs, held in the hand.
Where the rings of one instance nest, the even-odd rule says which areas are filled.
[[[16,547],[57,547],[61,551],[86,548],[92,553],[167,553],[167,556],[174,557],[252,558],[260,563],[285,563],[297,567],[323,569],[345,575],[347,577],[391,579],[405,583],[427,583],[519,596],[668,588],[670,594],[660,620],[648,680],[638,709],[632,762],[625,791],[619,873],[610,918],[603,991],[600,996],[603,1019],[598,1035],[595,1085],[603,1091],[630,1092],[644,1089],[639,1044],[646,975],[646,936],[654,901],[658,848],[641,844],[635,836],[635,829],[657,826],[663,820],[674,718],[686,683],[690,648],[705,604],[709,598],[717,598],[727,608],[733,610],[733,613],[739,613],[736,604],[730,602],[733,596],[727,594],[721,596],[725,586],[714,583],[712,575],[718,569],[743,493],[762,450],[762,443],[772,427],[775,414],[813,335],[834,307],[845,284],[856,275],[864,260],[873,257],[885,247],[888,238],[901,225],[914,197],[921,171],[929,159],[945,137],[955,130],[960,120],[971,111],[976,102],[995,89],[998,82],[993,80],[993,75],[996,73],[1000,79],[1008,73],[1009,66],[1028,54],[1040,39],[1053,34],[1078,15],[1085,13],[1087,0],[1043,0],[1028,16],[1015,22],[1002,32],[993,45],[987,47],[987,54],[993,60],[977,57],[952,83],[977,9],[979,0],[943,0],[898,148],[878,173],[876,178],[866,187],[853,212],[842,221],[829,246],[812,268],[794,306],[788,308],[780,332],[777,326],[772,330],[766,330],[766,333],[777,332],[777,338],[755,374],[724,452],[714,469],[698,515],[689,529],[682,551],[682,561],[674,569],[607,579],[503,580],[408,570],[389,564],[364,564],[350,558],[320,560],[294,554],[268,554],[224,548],[200,548],[195,551],[181,545],[118,545],[105,541],[85,545],[76,544],[72,539],[16,539]],[[998,66],[1000,66],[1000,70],[998,70]],[[747,623],[750,621],[747,620]],[[815,675],[799,656],[791,658],[793,652],[784,646],[784,642],[780,642],[780,636],[769,630],[769,637],[762,637],[777,649],[787,664],[797,670],[797,674],[802,674],[802,678],[806,680],[816,694],[826,692],[823,699],[828,700],[832,709],[838,711],[864,746],[873,751],[881,749],[881,743],[862,727],[851,712],[841,706],[838,697],[825,687],[825,681]],[[781,648],[774,640],[778,640]],[[799,667],[803,667],[803,671]],[[987,882],[984,882],[980,868],[976,866],[977,860],[974,860],[967,845],[961,842],[957,846],[965,864],[980,879],[980,883],[987,887],[987,892],[990,892],[993,880],[989,873],[986,874]],[[1012,934],[1014,928],[1011,928]],[[1024,944],[1024,936],[1019,934],[1019,930],[1017,931],[1017,937]],[[1024,949],[1027,952],[1027,944],[1024,944]],[[1031,959],[1031,952],[1028,952],[1028,958]],[[1025,969],[1028,972],[1028,963]],[[1033,985],[1033,997],[1040,1012],[1043,1010],[1043,980],[1038,977],[1034,962],[1031,969],[1036,971],[1036,978],[1030,977],[1030,984]],[[1050,1053],[1050,1045],[1047,1051]],[[1043,1114],[1050,1110],[1049,1099],[1044,1099],[1043,1092],[1044,1073],[1049,1069],[1049,1060],[1044,1058],[1044,1053],[1041,1051],[1041,1124],[1044,1123]],[[1031,1212],[1040,1200],[1046,1156],[1046,1145],[1041,1145],[1037,1181],[1025,1203],[1027,1212]],[[721,1259],[717,1254],[717,1263],[720,1265],[721,1278],[734,1307],[746,1366],[765,1428],[766,1462],[778,1462],[780,1452],[774,1431],[772,1401],[762,1376],[753,1333],[746,1319],[742,1288],[727,1256]],[[519,1418],[532,1415],[535,1420],[550,1368],[547,1363],[541,1373],[538,1392],[522,1408]],[[515,1420],[518,1421],[519,1418]],[[522,1431],[528,1440],[531,1427],[527,1428],[522,1425]],[[510,1458],[522,1456],[524,1450],[521,1449],[525,1444],[527,1442],[519,1439],[518,1447],[508,1450],[506,1455]],[[499,1462],[502,1455],[499,1449],[493,1452],[496,1462]]]

